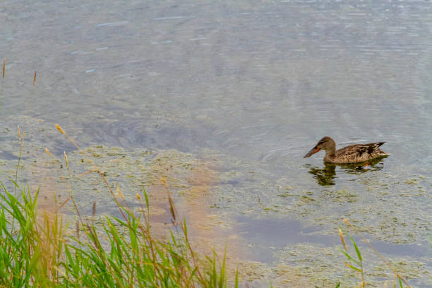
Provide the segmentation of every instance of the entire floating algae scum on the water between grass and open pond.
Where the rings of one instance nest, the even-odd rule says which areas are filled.
[[[42,133],[49,150],[37,147],[40,142],[32,135],[34,131]],[[5,127],[1,133],[5,138],[17,138],[16,130],[12,128]],[[289,183],[287,177],[271,182],[261,176],[259,171],[254,171],[252,164],[232,160],[212,150],[205,150],[207,156],[205,161],[177,150],[145,148],[124,150],[123,148],[93,145],[83,150],[69,148],[68,151],[64,151],[58,147],[59,140],[56,139],[56,134],[62,137],[67,135],[60,126],[50,129],[44,127],[42,121],[28,121],[25,129],[20,128],[18,141],[6,143],[4,147],[3,152],[6,153],[4,155],[9,153],[14,156],[1,160],[0,164],[4,167],[1,170],[2,179],[28,181],[33,191],[40,186],[39,207],[47,209],[56,203],[59,205],[64,203],[61,208],[61,211],[64,212],[62,216],[64,222],[69,223],[75,223],[73,211],[76,208],[69,199],[69,193],[72,193],[76,200],[76,207],[83,211],[83,215],[90,215],[85,219],[93,221],[92,224],[97,233],[103,232],[104,227],[107,227],[107,217],[122,217],[118,209],[119,205],[112,201],[114,196],[124,201],[122,203],[130,205],[133,213],[148,215],[152,219],[155,238],[166,241],[169,239],[169,236],[166,235],[167,227],[169,227],[167,219],[172,212],[170,212],[170,205],[167,205],[169,198],[160,180],[160,176],[163,176],[172,191],[173,199],[176,199],[175,205],[178,205],[181,211],[195,213],[193,217],[189,217],[192,214],[188,216],[188,231],[193,235],[193,242],[198,243],[196,247],[199,253],[208,251],[204,246],[217,245],[216,250],[219,251],[219,255],[222,255],[223,252],[221,254],[220,251],[223,251],[224,239],[231,239],[229,243],[234,245],[234,251],[242,251],[241,256],[236,256],[231,251],[227,254],[226,265],[231,271],[227,272],[227,275],[232,279],[235,277],[233,271],[239,267],[239,279],[255,284],[261,283],[260,286],[263,287],[268,285],[268,279],[272,279],[273,287],[286,287],[288,283],[294,283],[291,287],[308,287],[308,285],[323,283],[325,287],[335,287],[338,282],[341,282],[340,287],[350,287],[349,285],[356,283],[353,280],[356,277],[354,274],[350,272],[344,274],[344,272],[341,275],[341,266],[335,265],[335,263],[341,263],[341,265],[343,263],[344,257],[340,251],[325,244],[300,243],[276,246],[271,248],[274,253],[274,263],[251,261],[248,249],[268,249],[270,247],[261,244],[247,247],[245,244],[247,235],[236,235],[236,221],[232,213],[234,210],[246,215],[251,223],[254,219],[268,215],[273,219],[294,216],[302,223],[321,224],[322,229],[305,234],[314,239],[323,235],[337,234],[343,217],[350,217],[357,227],[361,227],[360,231],[367,232],[369,236],[380,233],[392,235],[400,241],[399,243],[409,244],[409,241],[402,242],[401,239],[415,237],[419,233],[412,229],[412,234],[396,234],[397,229],[401,227],[405,227],[405,231],[411,231],[411,227],[406,227],[405,225],[410,223],[391,207],[386,209],[394,212],[388,215],[385,215],[385,210],[378,210],[384,213],[378,214],[380,216],[379,219],[377,218],[378,222],[374,220],[364,222],[362,215],[365,217],[373,215],[371,212],[377,212],[375,209],[385,204],[380,203],[379,199],[376,200],[378,203],[371,203],[368,200],[367,192],[359,193],[359,191],[352,191],[346,187],[329,186],[319,193],[313,187],[305,188],[296,179],[292,181],[293,183]],[[22,145],[23,141],[20,136],[25,136],[28,142],[23,145],[16,178],[16,159],[20,153],[13,152],[13,149],[16,150]],[[52,143],[50,143],[51,140],[53,140]],[[54,149],[51,149],[52,147]],[[95,169],[95,167],[100,168]],[[235,169],[236,167],[241,167],[241,169]],[[7,175],[13,175],[13,177]],[[107,193],[108,186],[101,180],[102,176],[107,179],[113,194]],[[428,184],[428,179],[418,178],[419,186]],[[40,185],[34,184],[37,181],[40,181]],[[391,187],[395,185],[405,184],[403,181],[388,183],[388,186]],[[66,186],[71,187],[69,192]],[[13,186],[8,186],[9,191],[11,191],[10,188]],[[140,201],[145,199],[142,194],[143,188],[146,188],[148,199],[152,203],[149,207],[140,205]],[[386,196],[385,194],[378,195],[381,198]],[[392,197],[389,199],[391,200]],[[365,205],[359,207],[359,201],[364,201]],[[357,209],[354,211],[349,205]],[[417,215],[413,221],[421,225],[428,222],[428,218]],[[65,235],[76,234],[74,226],[76,225],[69,225],[64,232]],[[116,224],[116,227],[121,233],[128,233],[127,227],[121,227],[119,224]],[[395,227],[397,227],[396,230]],[[427,226],[419,227],[428,229]],[[78,231],[83,235],[83,226],[80,226]],[[218,239],[216,244],[215,239]],[[101,240],[101,246],[107,248],[109,242]],[[205,254],[208,253],[205,252]],[[366,263],[379,263],[380,261],[376,257],[373,258],[368,251],[362,251],[362,256],[366,259]],[[393,267],[397,267],[402,275],[409,275],[410,278],[430,278],[427,257],[415,258],[393,256],[389,262]],[[378,264],[368,264],[366,271],[368,272],[366,282],[370,283],[382,283],[377,279],[391,277],[391,272]]]

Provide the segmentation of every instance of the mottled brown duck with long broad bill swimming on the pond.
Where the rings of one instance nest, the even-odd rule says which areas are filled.
[[[304,155],[304,158],[311,157],[320,150],[325,150],[324,162],[335,164],[349,164],[368,162],[369,160],[378,157],[387,157],[388,153],[380,150],[380,146],[385,142],[367,143],[367,144],[354,144],[336,150],[336,143],[329,136],[325,136],[318,141],[318,143]]]

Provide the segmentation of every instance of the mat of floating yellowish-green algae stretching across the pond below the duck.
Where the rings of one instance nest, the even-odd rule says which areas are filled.
[[[150,215],[159,217],[155,218],[159,222],[152,226],[161,235],[167,229],[164,222],[169,222],[169,207],[160,176],[167,180],[179,208],[195,209],[197,206],[193,206],[193,203],[198,203],[196,205],[208,209],[207,215],[200,215],[205,221],[193,223],[201,231],[218,231],[224,235],[227,232],[223,231],[229,231],[235,224],[232,218],[240,214],[257,219],[264,216],[298,219],[305,226],[323,227],[314,232],[311,235],[313,237],[336,235],[345,217],[365,236],[393,244],[418,243],[424,241],[430,233],[430,215],[425,214],[424,208],[416,209],[419,201],[427,205],[427,200],[431,197],[425,192],[431,181],[424,176],[416,176],[414,184],[412,178],[401,181],[397,175],[384,175],[377,179],[368,174],[359,174],[359,183],[356,185],[325,186],[320,190],[302,177],[283,176],[272,179],[259,163],[229,157],[215,150],[203,150],[200,154],[205,155],[205,160],[200,160],[194,155],[174,149],[125,150],[104,145],[85,148],[87,156],[76,150],[67,151],[71,168],[69,175],[61,153],[57,153],[58,156],[52,159],[44,151],[45,147],[62,151],[58,147],[59,143],[66,143],[66,140],[59,142],[59,133],[55,129],[40,128],[45,125],[43,121],[28,123],[25,130],[25,157],[21,160],[18,180],[25,179],[34,188],[41,187],[42,206],[52,205],[49,199],[53,195],[61,203],[62,199],[68,197],[67,191],[70,189],[83,212],[91,214],[92,205],[96,203],[97,215],[118,213],[101,177],[96,173],[88,173],[94,169],[93,164],[87,160],[90,157],[106,175],[114,193],[117,193],[118,187],[124,201],[131,204],[134,210],[143,209],[136,194],[142,193],[144,188],[148,190],[152,203]],[[12,128],[2,132],[10,140],[2,150],[16,157],[16,151],[19,150],[16,132]],[[43,137],[31,136],[32,133],[43,133]],[[13,179],[16,158],[0,160],[0,164],[1,179]],[[380,182],[383,179],[385,183]],[[182,206],[182,203],[191,203],[192,206]],[[66,218],[69,215],[69,220],[73,221],[73,215],[68,212],[71,210],[71,203],[68,203],[64,212]],[[218,239],[223,243],[221,238]],[[212,241],[215,241],[212,234],[203,239],[203,242],[209,244]],[[241,237],[237,241],[247,243]],[[246,253],[246,259],[241,261],[241,271],[244,271],[241,272],[241,277],[256,283],[274,279],[274,287],[286,287],[287,284],[292,284],[291,287],[308,287],[312,284],[331,287],[339,281],[348,283],[347,285],[355,284],[352,282],[354,275],[349,272],[337,274],[344,267],[344,259],[335,248],[320,244],[296,244],[282,250],[273,247],[273,250],[277,258],[275,263],[250,261]],[[428,264],[425,264],[428,263],[427,259],[423,262],[406,258],[393,259],[397,260],[395,265],[398,269],[409,277],[430,279]],[[379,263],[379,260],[371,262]],[[383,271],[380,268],[380,265],[373,266],[371,277],[390,277],[385,268]]]

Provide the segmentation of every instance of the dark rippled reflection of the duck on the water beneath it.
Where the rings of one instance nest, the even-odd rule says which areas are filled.
[[[340,169],[344,173],[348,174],[361,174],[370,171],[378,171],[383,169],[383,159],[385,157],[380,157],[373,159],[369,162],[365,163],[356,163],[356,164],[333,164],[333,163],[325,163],[323,168],[315,167],[311,164],[305,164],[305,167],[309,169],[309,173],[313,174],[313,178],[316,179],[317,183],[321,186],[330,186],[335,185],[336,176],[336,167],[340,167]],[[341,172],[342,172],[341,171]]]

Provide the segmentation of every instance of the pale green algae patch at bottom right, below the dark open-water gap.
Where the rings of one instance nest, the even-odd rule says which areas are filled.
[[[308,287],[335,287],[341,282],[341,287],[354,287],[361,282],[359,275],[344,265],[346,258],[340,253],[340,246],[328,247],[323,245],[294,244],[286,246],[282,251],[275,251],[275,257],[280,260],[282,271],[295,271],[295,275],[307,279]],[[366,247],[360,247],[366,269],[366,282],[371,287],[383,287],[393,280],[392,271],[376,256],[376,253]],[[349,253],[355,253],[349,251]],[[393,258],[390,264],[407,279],[431,277],[427,265],[410,257]],[[280,268],[279,268],[280,269]],[[283,274],[275,269],[277,273]],[[432,283],[429,281],[429,283]]]

